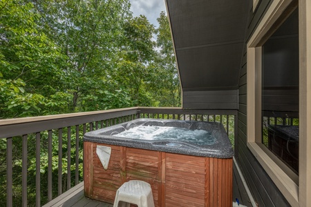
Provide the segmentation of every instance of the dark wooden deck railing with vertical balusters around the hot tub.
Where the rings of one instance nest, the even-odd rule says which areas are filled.
[[[218,121],[236,137],[236,110],[124,108],[0,120],[0,191],[6,206],[41,206],[83,179],[85,132],[137,118]],[[34,167],[35,166],[35,167]],[[1,181],[1,179],[0,179]],[[35,184],[33,184],[35,182]]]

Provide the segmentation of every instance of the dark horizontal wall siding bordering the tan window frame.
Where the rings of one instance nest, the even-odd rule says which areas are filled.
[[[246,43],[270,6],[271,0],[259,1],[256,9],[249,8],[249,21],[245,37],[244,56],[241,61],[238,109],[238,163],[240,164],[249,188],[258,206],[290,206],[274,182],[247,148],[247,54]]]

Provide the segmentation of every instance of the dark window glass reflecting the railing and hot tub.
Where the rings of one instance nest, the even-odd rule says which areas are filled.
[[[296,174],[299,170],[298,10],[262,47],[262,142]]]

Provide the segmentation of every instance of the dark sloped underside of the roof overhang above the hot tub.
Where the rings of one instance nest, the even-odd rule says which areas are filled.
[[[182,92],[238,90],[249,1],[166,1]]]

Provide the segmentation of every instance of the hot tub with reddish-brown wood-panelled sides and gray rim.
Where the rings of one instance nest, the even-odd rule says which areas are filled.
[[[205,130],[209,139],[120,137],[137,126]],[[97,146],[111,148],[107,170]],[[232,206],[233,155],[220,123],[135,119],[84,135],[84,193],[112,204],[117,188],[139,179],[151,184],[155,206]]]

